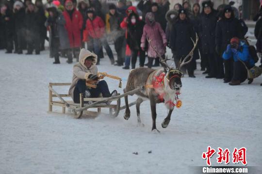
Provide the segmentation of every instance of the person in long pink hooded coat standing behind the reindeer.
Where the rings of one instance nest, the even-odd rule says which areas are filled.
[[[165,47],[167,46],[166,36],[161,28],[161,25],[155,21],[155,16],[151,12],[147,13],[146,15],[146,25],[144,26],[143,35],[141,38],[141,49],[147,49],[147,66],[148,68],[151,68],[153,65],[153,60],[158,58],[158,54],[151,46],[149,46],[149,44],[146,48],[147,37],[151,41],[150,45],[154,47],[164,59]]]

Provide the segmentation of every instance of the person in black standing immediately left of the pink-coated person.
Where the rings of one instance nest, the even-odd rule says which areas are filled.
[[[127,19],[127,44],[131,49],[131,65],[132,69],[135,68],[137,55],[139,52],[139,65],[143,67],[145,64],[145,51],[141,49],[141,37],[145,22],[139,19],[136,13],[131,13]]]

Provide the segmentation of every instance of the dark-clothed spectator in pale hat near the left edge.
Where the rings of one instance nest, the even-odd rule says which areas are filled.
[[[24,36],[25,36],[25,8],[20,1],[14,3],[15,32],[17,43],[17,54],[23,54]]]

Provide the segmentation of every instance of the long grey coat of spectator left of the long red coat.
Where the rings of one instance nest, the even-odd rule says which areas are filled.
[[[50,47],[52,47],[53,38],[59,37],[60,49],[70,48],[70,42],[65,24],[65,17],[60,12],[57,12],[57,17],[55,18],[52,18],[50,16],[48,17],[45,26],[49,28]]]

